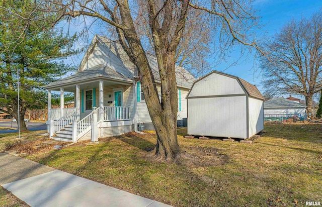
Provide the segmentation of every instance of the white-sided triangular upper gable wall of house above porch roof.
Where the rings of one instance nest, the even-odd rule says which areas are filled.
[[[89,55],[88,60],[84,64],[82,70],[92,68],[99,64],[106,65],[127,77],[133,76],[133,74],[124,66],[124,64],[112,51],[98,42],[94,46],[93,52]]]

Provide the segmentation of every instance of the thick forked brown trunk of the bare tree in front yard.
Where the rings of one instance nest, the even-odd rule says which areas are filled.
[[[180,38],[178,37],[181,37],[184,29],[187,10],[182,12],[184,15],[181,15],[183,17],[181,17],[182,20],[179,22],[183,25],[180,24],[179,29],[177,29],[178,32],[176,32],[176,37],[178,39],[175,40],[175,43],[177,44],[173,44],[173,48],[170,52],[160,46],[160,44],[165,45],[165,42],[161,43],[157,32],[153,32],[155,53],[161,82],[160,102],[152,70],[131,18],[128,1],[119,0],[117,2],[122,24],[125,26],[123,33],[128,46],[125,45],[125,41],[121,41],[121,44],[130,57],[130,60],[138,69],[147,109],[157,135],[154,156],[157,159],[166,159],[167,161],[173,160],[176,162],[181,157],[182,150],[177,139],[178,94],[175,74],[175,53],[180,42]],[[184,2],[187,9],[188,1]],[[168,36],[164,35],[164,37]]]

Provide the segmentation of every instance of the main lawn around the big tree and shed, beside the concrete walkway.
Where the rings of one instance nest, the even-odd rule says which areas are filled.
[[[146,157],[154,134],[79,143],[28,159],[175,206],[305,206],[322,201],[322,125],[265,125],[253,144],[185,139],[180,165]],[[1,135],[0,135],[1,136]],[[0,139],[1,140],[1,139]]]

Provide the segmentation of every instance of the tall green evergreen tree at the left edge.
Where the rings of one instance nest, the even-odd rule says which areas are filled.
[[[50,21],[55,17],[45,21],[33,1],[0,0],[0,6],[0,111],[18,119],[19,70],[20,129],[26,131],[26,110],[46,106],[47,96],[41,86],[75,69],[63,63],[64,58],[75,54],[71,50],[75,36],[69,38],[52,29]],[[29,17],[24,18],[27,14]]]

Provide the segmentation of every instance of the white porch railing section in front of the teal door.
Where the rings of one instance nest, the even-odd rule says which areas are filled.
[[[104,121],[131,119],[131,107],[104,107]]]

